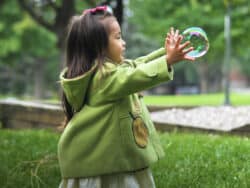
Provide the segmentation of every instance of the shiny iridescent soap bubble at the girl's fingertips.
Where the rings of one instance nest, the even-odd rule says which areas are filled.
[[[209,49],[209,41],[206,32],[200,27],[190,27],[187,28],[182,33],[183,40],[182,43],[190,41],[190,46],[194,47],[194,50],[189,52],[187,55],[190,57],[202,57],[205,55]]]

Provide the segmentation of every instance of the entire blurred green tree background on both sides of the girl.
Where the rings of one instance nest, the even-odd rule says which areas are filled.
[[[232,68],[250,80],[248,0],[0,0],[1,94],[57,96],[67,24],[83,9],[102,4],[111,5],[122,24],[128,58],[163,46],[171,26],[180,31],[202,27],[210,40],[209,52],[194,64],[178,64],[168,87],[194,84],[202,92],[221,91],[228,2],[232,5]]]

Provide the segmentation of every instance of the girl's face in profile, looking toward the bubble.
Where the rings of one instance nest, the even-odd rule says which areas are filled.
[[[107,57],[117,63],[121,63],[124,59],[123,53],[126,43],[122,39],[120,25],[115,19],[110,23],[109,31]]]

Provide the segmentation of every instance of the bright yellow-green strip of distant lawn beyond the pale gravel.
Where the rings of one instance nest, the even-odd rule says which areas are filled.
[[[147,105],[159,106],[219,106],[224,104],[224,94],[201,94],[201,95],[145,95]],[[231,104],[234,106],[250,105],[250,94],[230,95]]]

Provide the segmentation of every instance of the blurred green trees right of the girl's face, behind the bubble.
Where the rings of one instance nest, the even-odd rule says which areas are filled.
[[[250,78],[249,40],[250,2],[247,0],[176,0],[130,1],[133,10],[131,22],[140,33],[163,44],[165,33],[171,26],[184,29],[191,26],[203,28],[210,41],[208,53],[194,64],[176,66],[171,85],[198,84],[201,92],[222,91],[225,51],[224,17],[227,4],[231,4],[231,67],[238,68]]]

